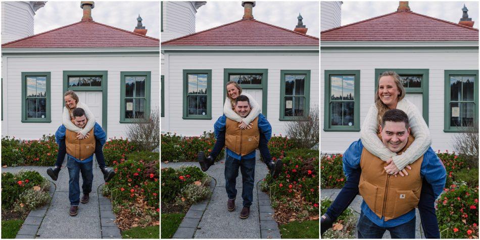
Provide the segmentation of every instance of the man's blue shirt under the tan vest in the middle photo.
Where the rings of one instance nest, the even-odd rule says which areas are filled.
[[[225,115],[222,115],[221,117],[219,117],[218,120],[215,122],[215,125],[214,125],[215,137],[218,137],[218,134],[220,131],[225,131],[226,122],[227,122],[227,117]],[[268,120],[265,118],[265,116],[263,116],[263,114],[258,115],[258,130],[260,131],[260,133],[265,135],[265,138],[267,139],[267,141],[270,140],[270,138],[272,137],[272,126],[270,125]],[[234,153],[228,148],[226,152],[227,152],[227,156],[230,156],[238,160],[255,158],[255,150],[243,157]]]

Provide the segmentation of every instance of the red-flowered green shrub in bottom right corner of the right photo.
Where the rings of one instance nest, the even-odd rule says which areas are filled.
[[[478,238],[478,186],[454,182],[437,200],[442,238]]]

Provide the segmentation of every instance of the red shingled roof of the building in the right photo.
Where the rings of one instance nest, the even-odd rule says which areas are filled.
[[[478,29],[400,11],[332,28],[320,37],[322,41],[478,41]]]

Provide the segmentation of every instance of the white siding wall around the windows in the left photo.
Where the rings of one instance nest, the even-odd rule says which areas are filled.
[[[4,55],[2,77],[4,81],[2,136],[20,139],[38,139],[43,134],[55,134],[62,124],[63,71],[108,71],[107,136],[126,137],[126,123],[120,123],[120,72],[151,72],[151,109],[160,104],[159,54],[114,55]],[[22,123],[22,72],[51,73],[51,123]],[[103,109],[105,111],[105,109]]]

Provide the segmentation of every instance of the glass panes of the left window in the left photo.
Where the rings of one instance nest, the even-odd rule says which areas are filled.
[[[28,118],[46,118],[46,77],[26,77],[26,103]]]

